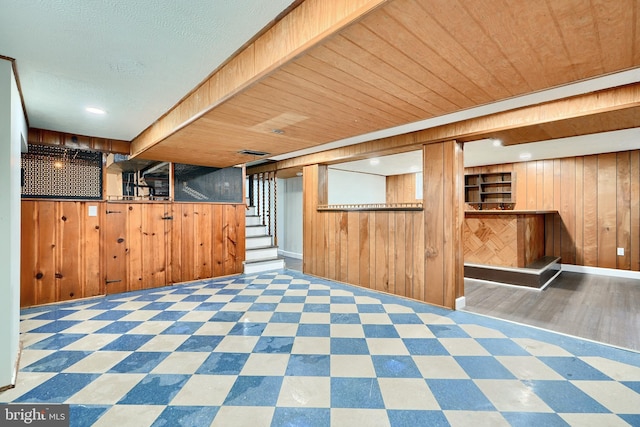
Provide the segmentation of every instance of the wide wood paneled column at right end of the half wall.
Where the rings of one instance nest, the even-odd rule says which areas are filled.
[[[423,153],[425,301],[453,309],[464,295],[462,145],[428,144]]]

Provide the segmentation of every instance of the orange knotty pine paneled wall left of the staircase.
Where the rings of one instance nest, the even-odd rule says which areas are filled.
[[[243,205],[25,200],[21,305],[240,273],[244,223]]]

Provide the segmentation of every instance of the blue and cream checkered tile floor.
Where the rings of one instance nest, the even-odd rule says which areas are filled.
[[[22,312],[75,426],[640,425],[640,354],[283,270]],[[638,331],[629,331],[638,333]]]

